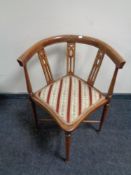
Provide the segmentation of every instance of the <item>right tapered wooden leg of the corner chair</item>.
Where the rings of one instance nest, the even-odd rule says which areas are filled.
[[[109,104],[106,104],[103,108],[103,112],[102,112],[102,116],[101,116],[101,120],[100,120],[100,125],[99,125],[99,129],[98,131],[101,131],[102,129],[102,126],[104,124],[104,121],[107,117],[107,114],[108,114],[108,111],[109,111]]]

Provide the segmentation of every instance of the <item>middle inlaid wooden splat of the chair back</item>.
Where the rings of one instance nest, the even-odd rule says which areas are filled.
[[[75,43],[67,43],[67,73],[74,74]]]

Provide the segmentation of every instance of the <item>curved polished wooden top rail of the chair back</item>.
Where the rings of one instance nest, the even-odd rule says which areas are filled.
[[[117,51],[115,51],[111,46],[109,46],[107,43],[92,38],[89,36],[81,36],[81,35],[60,35],[60,36],[54,36],[47,39],[43,39],[36,44],[34,44],[31,48],[27,49],[25,53],[23,53],[19,58],[18,62],[20,65],[25,65],[26,62],[39,51],[40,48],[46,47],[51,44],[60,43],[60,42],[70,42],[70,43],[83,43],[87,45],[92,45],[94,47],[99,48],[100,50],[105,50],[105,54],[107,54],[110,59],[116,64],[118,68],[122,68],[125,64],[125,60],[122,58],[122,56],[119,55]]]

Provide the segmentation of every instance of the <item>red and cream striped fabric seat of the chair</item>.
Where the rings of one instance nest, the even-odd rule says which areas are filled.
[[[40,99],[66,124],[75,122],[103,98],[98,91],[74,76],[66,76],[40,92]]]

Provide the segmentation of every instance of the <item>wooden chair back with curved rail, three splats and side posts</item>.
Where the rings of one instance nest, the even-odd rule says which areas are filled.
[[[125,60],[118,54],[118,52],[116,52],[111,46],[109,46],[105,42],[96,38],[88,36],[80,36],[80,35],[60,35],[41,40],[36,44],[34,44],[32,47],[30,47],[24,54],[22,54],[18,58],[19,64],[24,67],[27,90],[29,94],[30,95],[32,94],[32,87],[29,79],[29,74],[26,68],[26,63],[31,59],[31,57],[35,53],[37,53],[43,68],[43,72],[45,74],[47,84],[53,82],[53,76],[51,73],[51,69],[44,48],[48,45],[61,42],[67,43],[67,74],[74,74],[76,43],[87,44],[98,48],[98,52],[93,67],[87,80],[88,84],[90,84],[91,86],[93,86],[95,83],[104,55],[107,55],[114,62],[115,71],[107,93],[107,99],[110,100],[113,94],[118,69],[124,66]]]

